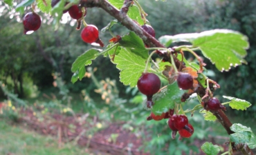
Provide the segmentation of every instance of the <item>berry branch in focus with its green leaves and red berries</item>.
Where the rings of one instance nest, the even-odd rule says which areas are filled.
[[[10,4],[10,1],[7,2]],[[214,91],[221,89],[221,85],[206,76],[206,64],[203,62],[203,59],[209,59],[220,72],[228,72],[232,67],[246,64],[244,58],[249,43],[244,34],[218,29],[164,35],[156,39],[151,21],[147,20],[148,14],[137,0],[60,0],[50,5],[44,0],[42,3],[24,0],[16,6],[16,10],[24,12],[27,6],[31,6],[31,12],[24,17],[24,34],[38,30],[41,25],[41,18],[35,10],[51,14],[55,28],[60,24],[62,15],[68,12],[77,20],[76,30],[80,31],[83,27],[80,32],[82,41],[101,47],[86,50],[77,57],[71,66],[72,83],[84,78],[85,66],[91,65],[98,56],[105,56],[120,70],[120,81],[124,85],[138,87],[138,90],[147,96],[142,104],[145,104],[145,110],[150,110],[151,114],[145,116],[145,121],[161,121],[166,118],[166,126],[170,127],[172,138],[175,139],[179,133],[179,140],[183,141],[183,138],[190,138],[196,132],[193,124],[188,121],[188,116],[200,111],[204,114],[205,121],[218,120],[230,136],[230,149],[226,154],[253,154],[251,149],[256,147],[255,134],[250,127],[232,124],[223,112],[226,110],[224,105],[229,105],[235,110],[246,110],[251,104],[232,96],[222,96],[229,101],[220,103],[214,96]],[[112,35],[109,42],[105,43],[107,45],[99,38],[96,25],[86,23],[84,17],[89,16],[87,8],[101,8],[114,18],[102,29],[102,32]],[[114,34],[111,28],[118,24],[130,32],[123,36]],[[174,46],[174,43],[179,45]],[[194,61],[187,60],[185,52],[192,54]],[[199,56],[199,52],[202,56]],[[156,57],[161,61],[153,59]],[[183,105],[190,99],[197,100],[198,104],[192,109],[183,109]],[[203,144],[201,149],[205,154],[212,155],[220,151],[220,148],[212,143]]]

